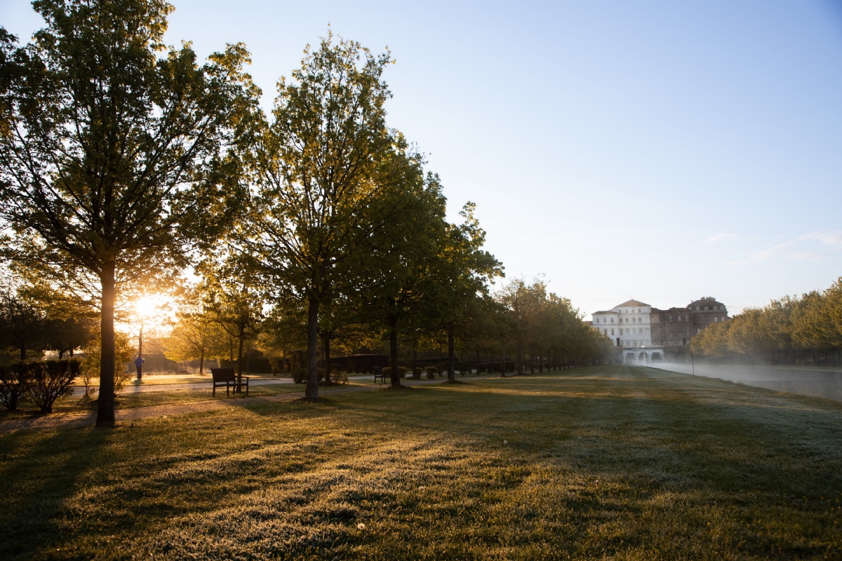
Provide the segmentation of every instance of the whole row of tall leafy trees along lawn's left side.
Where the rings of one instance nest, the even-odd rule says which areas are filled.
[[[453,381],[456,340],[488,327],[494,313],[477,310],[493,309],[503,267],[482,249],[473,204],[461,224],[445,220],[439,177],[386,125],[388,52],[328,32],[266,115],[244,45],[204,65],[189,43],[163,45],[163,0],[34,6],[45,28],[32,42],[0,29],[3,256],[25,286],[99,313],[98,426],[114,424],[115,313],[187,267],[200,282],[177,333],[223,328],[241,375],[244,345],[269,322],[278,341],[306,334],[309,398],[319,348],[329,358],[360,325],[388,341],[395,385],[400,339],[444,334]],[[488,327],[501,346],[600,352],[569,302],[544,297],[554,327],[538,334],[513,291],[515,320]]]

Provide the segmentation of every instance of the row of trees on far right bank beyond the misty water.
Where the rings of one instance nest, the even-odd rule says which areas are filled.
[[[772,300],[713,324],[690,340],[712,360],[837,364],[842,352],[842,278],[826,290]]]

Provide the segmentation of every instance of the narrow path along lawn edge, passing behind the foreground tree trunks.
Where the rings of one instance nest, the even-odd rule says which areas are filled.
[[[470,378],[461,378],[457,376],[457,380],[477,380],[498,378],[497,376],[472,376]],[[430,384],[444,384],[446,380],[440,378],[434,380],[404,380],[403,384],[408,386],[430,385]],[[166,384],[169,385],[169,384]],[[173,384],[179,387],[193,387],[198,384]],[[388,387],[384,384],[382,387]],[[320,397],[331,397],[333,395],[349,394],[352,392],[374,391],[381,389],[380,385],[376,386],[349,386],[335,389],[319,389]],[[115,411],[115,420],[118,424],[125,424],[126,422],[138,421],[141,419],[149,419],[152,417],[160,417],[166,415],[185,415],[188,413],[198,413],[201,411],[210,411],[217,409],[225,409],[230,407],[248,407],[250,405],[258,405],[264,403],[278,403],[282,401],[293,401],[303,397],[303,388],[301,393],[293,394],[276,394],[265,396],[253,396],[243,398],[216,398],[206,401],[194,401],[191,403],[172,404],[172,405],[152,405],[150,407],[135,407],[131,409],[118,409]],[[64,428],[72,428],[77,426],[93,426],[96,422],[96,412],[87,413],[57,413],[54,415],[31,415],[21,419],[13,419],[9,421],[0,422],[0,433],[14,432],[28,429],[45,429],[56,430]]]

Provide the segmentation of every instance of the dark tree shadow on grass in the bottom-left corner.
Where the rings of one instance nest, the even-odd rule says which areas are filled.
[[[0,558],[53,549],[63,503],[77,490],[111,431],[17,431],[0,436]]]

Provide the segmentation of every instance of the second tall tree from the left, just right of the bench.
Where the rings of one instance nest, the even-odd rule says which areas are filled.
[[[294,82],[281,78],[274,121],[254,152],[258,192],[242,246],[285,298],[307,306],[306,396],[318,398],[318,315],[348,278],[374,181],[392,146],[382,82],[388,53],[323,39],[309,46]]]

